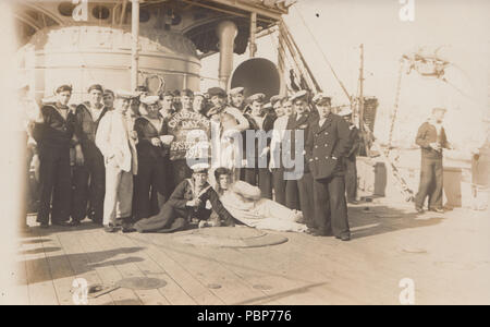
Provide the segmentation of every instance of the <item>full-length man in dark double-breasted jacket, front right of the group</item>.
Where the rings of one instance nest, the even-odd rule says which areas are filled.
[[[351,240],[345,201],[343,158],[351,149],[351,130],[345,120],[331,112],[330,98],[315,97],[319,119],[311,122],[306,158],[314,178],[314,235]]]

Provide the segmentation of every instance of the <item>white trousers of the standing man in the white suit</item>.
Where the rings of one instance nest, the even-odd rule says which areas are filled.
[[[130,218],[133,201],[133,173],[121,170],[113,161],[106,165],[103,225],[115,225],[118,218]]]

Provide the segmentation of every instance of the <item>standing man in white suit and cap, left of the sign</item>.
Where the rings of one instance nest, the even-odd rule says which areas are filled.
[[[96,135],[96,144],[106,164],[103,226],[107,232],[117,231],[115,219],[122,219],[124,232],[132,217],[133,174],[137,174],[137,135],[127,111],[134,97],[128,92],[119,92],[114,110],[100,120]]]

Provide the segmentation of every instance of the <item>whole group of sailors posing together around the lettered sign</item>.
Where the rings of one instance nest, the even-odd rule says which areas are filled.
[[[356,201],[359,135],[352,111],[332,112],[330,97],[302,90],[245,98],[243,87],[152,96],[144,86],[114,93],[96,84],[87,89],[88,100],[74,106],[72,92],[59,86],[27,129],[27,164],[39,162],[41,228],[49,220],[78,226],[88,217],[108,232],[171,232],[194,221],[351,239],[347,201]],[[169,121],[182,112],[219,125],[218,165],[171,160]],[[266,146],[254,141],[252,165],[244,150],[249,141],[233,142],[250,130],[272,131]],[[304,135],[303,145],[296,135]],[[237,153],[248,164],[236,165]],[[284,165],[278,153],[296,164],[301,156],[302,169]],[[287,172],[296,178],[285,178]]]

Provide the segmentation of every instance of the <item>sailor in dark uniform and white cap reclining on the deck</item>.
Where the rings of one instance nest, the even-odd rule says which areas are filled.
[[[211,208],[221,220],[224,220],[226,226],[233,226],[233,217],[223,207],[218,194],[208,183],[208,168],[207,164],[194,165],[192,178],[177,185],[160,213],[139,220],[134,225],[134,229],[140,233],[169,233],[184,230],[194,218],[207,220]]]

